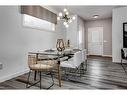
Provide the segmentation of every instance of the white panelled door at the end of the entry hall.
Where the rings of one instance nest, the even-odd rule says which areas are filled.
[[[103,27],[88,28],[88,53],[103,55]]]

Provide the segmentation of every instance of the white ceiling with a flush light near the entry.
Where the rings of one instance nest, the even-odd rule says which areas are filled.
[[[51,6],[58,12],[67,8],[68,11],[75,15],[79,15],[84,20],[96,20],[112,17],[112,9],[120,6]],[[93,18],[93,15],[99,15],[98,18]]]

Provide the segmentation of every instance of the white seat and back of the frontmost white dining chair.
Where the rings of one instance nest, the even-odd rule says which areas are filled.
[[[67,61],[63,61],[61,62],[60,66],[65,68],[65,69],[73,69],[76,72],[79,71],[79,67],[82,63],[82,52],[78,51],[74,54],[74,57],[72,57],[71,59],[68,59]],[[65,70],[66,73],[67,70]],[[71,71],[70,71],[71,72]]]

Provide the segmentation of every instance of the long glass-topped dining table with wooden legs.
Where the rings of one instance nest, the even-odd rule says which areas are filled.
[[[64,50],[62,52],[58,52],[57,50],[52,50],[52,49],[49,49],[49,50],[45,50],[45,51],[37,51],[37,52],[28,52],[29,54],[35,54],[36,55],[36,64],[38,61],[41,61],[41,60],[57,60],[57,76],[58,76],[58,82],[59,82],[59,87],[61,87],[61,70],[60,70],[60,64],[61,64],[61,61],[64,61],[64,60],[68,60],[70,58],[73,57],[74,53],[79,51],[78,49],[72,49],[72,50]],[[39,55],[46,55],[48,56],[47,58],[44,57],[44,58],[39,58]],[[36,75],[37,75],[37,72],[35,71],[35,74],[34,74],[34,80],[36,80]]]

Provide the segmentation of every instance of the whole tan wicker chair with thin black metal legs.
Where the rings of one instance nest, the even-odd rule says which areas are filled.
[[[44,89],[49,89],[54,85],[54,80],[53,80],[53,74],[52,70],[55,68],[56,64],[54,60],[41,60],[38,61],[36,59],[36,55],[34,54],[29,54],[28,55],[28,66],[30,68],[29,74],[28,74],[28,79],[27,79],[27,84],[26,88],[30,88],[33,85],[36,85],[37,83],[40,82],[40,89],[42,88],[41,83],[42,83],[42,72],[48,72],[48,74],[51,76],[52,84]],[[39,81],[30,84],[30,75],[32,71],[36,71],[39,74]]]

